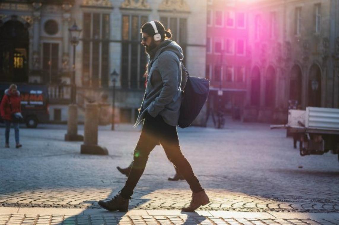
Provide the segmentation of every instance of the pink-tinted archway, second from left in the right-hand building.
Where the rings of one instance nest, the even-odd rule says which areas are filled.
[[[274,107],[275,106],[275,69],[273,66],[269,66],[266,72],[266,83],[265,83],[265,106]]]

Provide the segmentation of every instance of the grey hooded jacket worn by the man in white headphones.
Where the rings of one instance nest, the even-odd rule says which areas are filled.
[[[160,48],[148,62],[145,97],[134,127],[145,118],[146,110],[152,117],[161,115],[167,124],[177,126],[181,105],[180,60],[183,57],[182,49],[175,41],[160,43]]]

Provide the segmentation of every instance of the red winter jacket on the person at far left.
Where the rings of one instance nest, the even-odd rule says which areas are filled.
[[[12,104],[12,110],[9,102]],[[12,120],[13,113],[21,112],[21,98],[18,90],[15,94],[10,93],[9,89],[5,90],[5,95],[0,104],[0,112],[1,118],[4,120]]]

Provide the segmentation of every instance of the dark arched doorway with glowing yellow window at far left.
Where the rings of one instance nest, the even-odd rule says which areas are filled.
[[[9,20],[0,27],[0,82],[28,82],[27,25]]]

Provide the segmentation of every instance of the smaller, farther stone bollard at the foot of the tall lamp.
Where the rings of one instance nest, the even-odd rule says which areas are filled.
[[[65,141],[83,141],[84,137],[78,135],[78,106],[68,105],[67,134]]]

